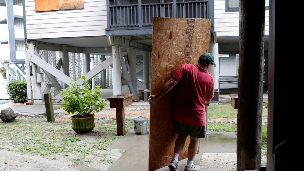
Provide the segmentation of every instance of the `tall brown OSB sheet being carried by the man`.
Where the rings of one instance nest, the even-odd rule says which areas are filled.
[[[208,52],[211,19],[153,18],[151,94],[156,94],[184,63],[197,64]],[[150,107],[149,171],[170,163],[177,137],[173,107],[176,89]],[[179,160],[187,158],[189,138]]]

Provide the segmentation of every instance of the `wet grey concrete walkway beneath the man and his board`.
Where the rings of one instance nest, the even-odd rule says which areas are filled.
[[[134,171],[148,170],[149,158],[149,133],[136,135],[134,132],[126,134],[108,148],[127,150],[108,171]],[[237,136],[233,132],[212,132],[207,138],[200,140],[199,154],[195,156],[195,165],[201,163],[203,153],[236,153]],[[173,154],[172,154],[173,155]],[[181,160],[179,169],[183,170],[187,164],[187,159]],[[168,171],[165,166],[157,171]],[[210,170],[212,171],[212,170]],[[214,170],[216,171],[216,170]]]

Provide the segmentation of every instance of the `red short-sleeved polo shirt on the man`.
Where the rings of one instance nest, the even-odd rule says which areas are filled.
[[[174,105],[174,120],[183,124],[206,126],[206,98],[214,96],[210,73],[194,64],[183,64],[172,77],[178,81]]]

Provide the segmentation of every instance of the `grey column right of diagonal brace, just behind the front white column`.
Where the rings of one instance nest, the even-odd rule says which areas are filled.
[[[128,49],[128,61],[129,61],[129,74],[130,74],[130,79],[131,83],[133,86],[134,91],[137,93],[136,89],[136,50],[135,49]]]

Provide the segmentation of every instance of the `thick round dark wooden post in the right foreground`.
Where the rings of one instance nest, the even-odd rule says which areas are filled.
[[[240,0],[237,170],[260,170],[265,0]]]

